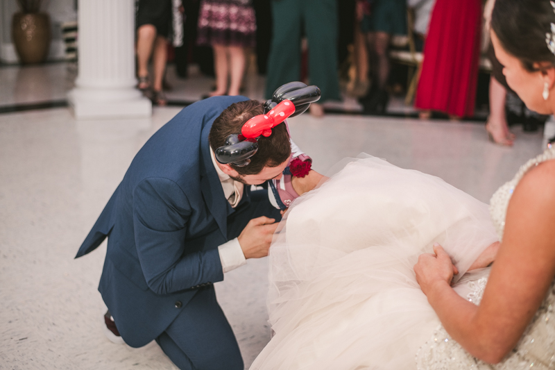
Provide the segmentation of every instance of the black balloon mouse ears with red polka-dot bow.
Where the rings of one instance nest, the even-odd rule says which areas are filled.
[[[244,167],[250,157],[258,151],[258,139],[272,134],[272,128],[281,124],[287,117],[302,115],[320,99],[317,86],[307,86],[302,82],[290,82],[275,90],[272,99],[264,103],[264,114],[257,115],[245,122],[241,133],[229,135],[225,144],[214,152],[216,160],[222,164],[232,163]]]

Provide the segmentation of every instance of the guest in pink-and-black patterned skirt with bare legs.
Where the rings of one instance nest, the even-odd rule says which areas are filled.
[[[214,49],[216,90],[209,96],[239,95],[245,73],[245,51],[256,45],[256,18],[251,1],[203,0],[197,44]]]

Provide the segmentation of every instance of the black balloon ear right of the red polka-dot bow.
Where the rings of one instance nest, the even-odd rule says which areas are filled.
[[[295,106],[295,112],[289,116],[297,117],[302,115],[310,106],[310,103],[314,103],[320,99],[321,92],[318,86],[307,86],[305,83],[295,81],[286,83],[278,87],[272,95],[272,99],[269,99],[264,103],[264,113],[269,112],[278,103],[281,103],[285,99],[290,100]]]

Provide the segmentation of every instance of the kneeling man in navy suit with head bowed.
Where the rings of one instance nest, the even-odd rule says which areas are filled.
[[[129,346],[155,339],[180,369],[244,368],[213,283],[268,254],[280,212],[250,185],[280,178],[291,144],[280,124],[245,167],[222,165],[214,151],[263,109],[217,96],[182,110],[137,153],[76,255],[108,237],[99,284],[107,326]]]

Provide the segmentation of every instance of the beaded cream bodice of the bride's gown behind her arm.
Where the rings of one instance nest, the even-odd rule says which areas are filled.
[[[538,157],[529,160],[520,167],[513,180],[499,187],[499,190],[493,194],[490,201],[490,214],[499,235],[499,240],[503,237],[506,211],[516,185],[531,167],[551,159],[555,159],[555,148],[547,149]],[[468,290],[470,291],[467,295],[468,300],[479,305],[486,283],[487,278],[470,281],[468,283]],[[447,334],[443,325],[440,325],[434,331],[432,337],[418,350],[416,368],[418,370],[555,369],[554,284],[552,283],[545,300],[527,329],[524,330],[524,334],[513,352],[507,355],[499,364],[486,364],[472,357]]]

